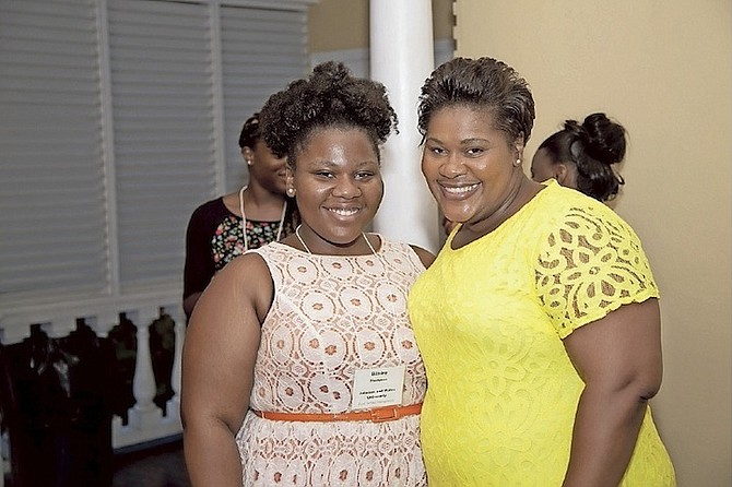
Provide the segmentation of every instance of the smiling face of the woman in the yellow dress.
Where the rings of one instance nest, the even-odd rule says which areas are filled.
[[[524,178],[522,138],[509,141],[489,109],[468,106],[440,108],[426,129],[422,173],[445,216],[469,225],[501,221]]]

